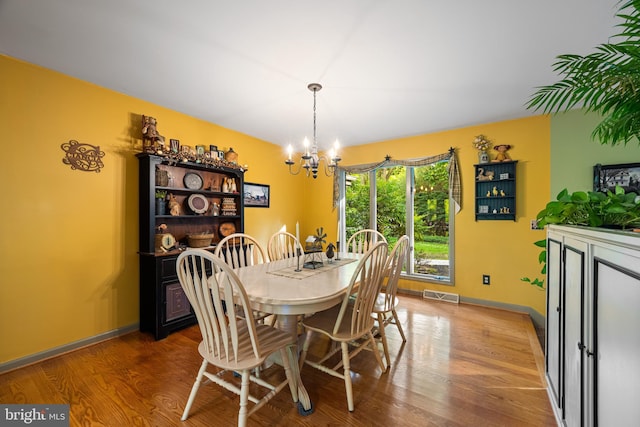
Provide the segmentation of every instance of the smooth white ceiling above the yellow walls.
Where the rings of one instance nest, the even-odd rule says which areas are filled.
[[[319,82],[327,148],[534,114],[555,57],[607,42],[618,5],[0,0],[0,52],[283,146],[312,137]]]

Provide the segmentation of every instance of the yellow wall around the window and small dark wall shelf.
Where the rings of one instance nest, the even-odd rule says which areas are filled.
[[[475,221],[474,168],[477,151],[471,141],[485,134],[495,144],[511,144],[509,151],[517,166],[517,220]],[[531,307],[545,313],[545,293],[520,280],[540,277],[537,263],[540,250],[533,245],[545,237],[532,231],[530,220],[549,201],[549,117],[510,120],[411,138],[383,141],[342,151],[344,165],[377,162],[390,155],[411,159],[446,153],[454,147],[458,154],[463,201],[455,218],[455,284],[453,287],[402,280],[401,287],[453,292],[467,298]],[[495,155],[494,155],[495,157]],[[317,217],[335,215],[331,211],[330,189],[323,189],[315,200]],[[330,236],[334,236],[330,234]],[[482,285],[482,275],[491,276],[491,285]]]

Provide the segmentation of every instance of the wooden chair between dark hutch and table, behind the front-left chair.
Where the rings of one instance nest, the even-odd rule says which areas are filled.
[[[258,241],[244,233],[233,233],[220,240],[213,252],[222,258],[231,268],[242,268],[250,265],[264,264],[269,261],[266,252]],[[242,315],[240,312],[239,315]],[[263,322],[270,313],[255,311],[253,317],[258,322]],[[275,316],[271,325],[275,324]]]

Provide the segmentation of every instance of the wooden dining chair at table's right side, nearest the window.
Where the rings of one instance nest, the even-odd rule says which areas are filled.
[[[409,249],[409,237],[404,235],[398,239],[396,244],[389,254],[388,267],[386,270],[386,283],[383,282],[376,302],[373,306],[373,312],[377,319],[377,330],[374,331],[374,336],[380,335],[382,341],[382,347],[384,348],[384,356],[387,360],[387,367],[391,366],[391,360],[389,358],[389,346],[387,344],[387,336],[385,334],[385,327],[388,324],[394,324],[400,332],[402,341],[406,342],[407,338],[402,330],[402,324],[398,319],[398,313],[396,307],[398,306],[398,297],[396,293],[398,291],[398,280],[400,279],[400,273],[402,267],[407,259],[407,251]]]

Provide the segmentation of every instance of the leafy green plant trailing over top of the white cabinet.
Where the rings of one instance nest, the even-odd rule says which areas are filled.
[[[576,191],[569,193],[565,188],[556,200],[538,212],[538,227],[547,224],[583,225],[628,229],[640,227],[640,196],[634,192],[625,193],[616,186],[615,191]],[[534,242],[542,249],[538,261],[542,264],[542,274],[547,273],[547,239]],[[524,282],[544,288],[544,280],[523,277]]]

